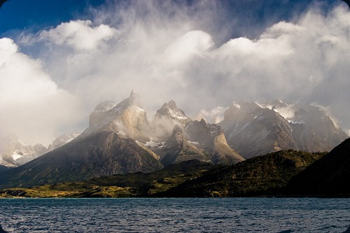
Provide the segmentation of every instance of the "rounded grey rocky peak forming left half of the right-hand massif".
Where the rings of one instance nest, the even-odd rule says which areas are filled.
[[[228,145],[246,158],[284,148],[298,149],[288,122],[273,109],[255,102],[233,104],[219,125]]]

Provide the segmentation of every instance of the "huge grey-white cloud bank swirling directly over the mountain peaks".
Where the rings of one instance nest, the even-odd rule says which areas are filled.
[[[41,66],[25,58],[23,63],[32,69],[27,73],[41,73],[35,77],[48,80],[45,85],[57,84],[49,85],[52,93],[66,90],[78,98],[81,120],[87,122],[100,101],[121,101],[135,90],[149,118],[170,99],[191,118],[201,109],[229,106],[232,101],[282,99],[330,106],[342,127],[350,128],[350,13],[344,6],[328,14],[308,10],[293,22],[271,24],[256,38],[230,38],[219,44],[234,29],[224,31],[220,19],[225,10],[218,1],[200,1],[188,8],[172,1],[126,5],[95,10],[91,21],[44,29],[31,35],[38,43],[22,45],[35,46],[31,49],[39,51],[42,62]],[[17,50],[12,43],[4,46]],[[216,120],[216,111],[202,114]],[[62,121],[52,127],[59,124],[62,127]]]

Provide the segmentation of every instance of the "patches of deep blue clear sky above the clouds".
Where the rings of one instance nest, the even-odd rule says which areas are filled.
[[[91,8],[99,8],[108,0],[10,0],[3,4],[0,14],[0,34],[6,36],[13,30],[38,31],[45,27],[55,27],[61,22],[86,19]],[[109,1],[111,3],[113,1]],[[130,1],[115,1],[124,4]],[[174,1],[178,4],[195,5],[198,1]],[[254,29],[266,26],[278,20],[290,20],[300,14],[315,1],[310,0],[267,0],[267,1],[220,1],[227,8],[228,15],[223,20],[230,20],[233,14],[246,16],[241,20],[241,27]],[[337,0],[325,0],[323,10],[328,10]],[[130,3],[132,4],[132,3]],[[231,12],[231,13],[230,13]],[[248,29],[250,32],[251,29]],[[252,35],[253,36],[253,35]]]

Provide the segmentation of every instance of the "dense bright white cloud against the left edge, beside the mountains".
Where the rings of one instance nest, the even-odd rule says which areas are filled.
[[[72,124],[79,111],[78,99],[59,89],[40,62],[17,48],[10,38],[0,39],[1,134],[48,144],[59,127]]]

